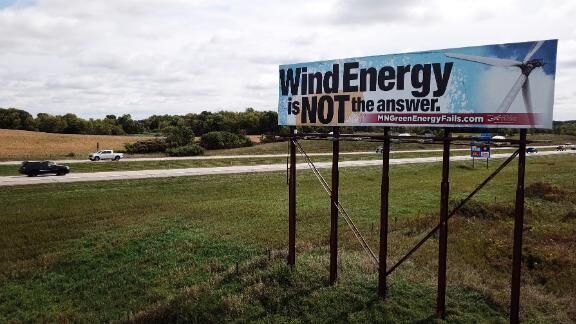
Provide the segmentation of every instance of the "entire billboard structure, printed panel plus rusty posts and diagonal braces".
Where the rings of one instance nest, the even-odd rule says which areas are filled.
[[[288,264],[294,267],[296,260],[296,149],[298,149],[305,156],[306,162],[313,169],[323,189],[330,195],[330,284],[337,280],[339,214],[346,220],[374,264],[378,264],[378,296],[381,298],[386,297],[388,275],[424,242],[438,233],[436,316],[444,318],[448,220],[518,155],[510,296],[510,322],[517,323],[520,311],[526,133],[527,128],[553,127],[557,47],[558,40],[548,39],[280,65],[278,125],[290,126]],[[519,57],[523,57],[522,61]],[[479,69],[484,69],[486,65],[491,68],[478,73]],[[514,82],[511,82],[513,79],[502,78],[504,69],[514,71]],[[532,73],[534,71],[537,72]],[[396,81],[394,76],[397,76]],[[494,89],[497,88],[497,91],[487,91],[492,88],[486,89],[486,84],[496,84],[497,87]],[[531,87],[530,84],[539,86]],[[523,100],[518,99],[520,96]],[[333,128],[333,135],[327,138],[326,134],[319,133],[297,134],[296,126],[330,126]],[[354,134],[340,134],[339,127],[356,126],[385,127],[384,136],[360,137],[360,140],[384,142],[379,259],[338,201],[339,141],[358,140]],[[442,141],[444,149],[439,223],[405,256],[386,269],[390,141],[391,138],[401,141],[399,137],[403,135],[391,136],[390,127],[442,127],[444,136],[434,137],[432,141]],[[449,211],[450,146],[453,139],[457,140],[451,137],[451,128],[520,129],[520,140],[512,141],[514,144],[519,144],[520,148],[455,209]],[[298,142],[298,139],[310,137],[333,141],[331,187]],[[429,136],[401,137],[402,140],[418,139],[423,142],[428,142],[429,139]],[[486,158],[486,169],[490,169],[490,143],[503,143],[503,139],[492,137],[490,133],[482,133],[480,139],[477,136],[466,138],[469,139],[474,140],[470,143],[472,167],[475,167],[475,158]]]

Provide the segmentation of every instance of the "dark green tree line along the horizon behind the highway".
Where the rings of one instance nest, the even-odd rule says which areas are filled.
[[[121,116],[106,115],[103,119],[83,119],[75,114],[51,115],[39,113],[36,117],[27,111],[16,108],[0,108],[0,128],[20,129],[28,131],[40,131],[47,133],[64,134],[92,134],[92,135],[125,135],[125,134],[164,134],[166,130],[173,128],[190,129],[196,136],[202,136],[209,132],[220,131],[242,135],[286,135],[288,128],[278,125],[278,114],[275,111],[256,111],[247,108],[243,112],[203,111],[199,114],[186,115],[152,115],[141,120],[134,120],[130,114]],[[302,132],[327,133],[329,127],[301,128]],[[358,131],[381,132],[379,127],[343,127],[343,133],[354,133]],[[396,132],[410,132],[424,134],[431,132],[440,134],[441,128],[425,127],[395,127]],[[458,129],[452,129],[458,132]],[[469,132],[470,129],[462,129]],[[486,130],[491,132],[491,130]],[[494,133],[502,135],[514,134],[517,130],[498,129],[492,130]],[[552,130],[531,130],[533,133],[554,133],[576,136],[576,120],[555,121]]]

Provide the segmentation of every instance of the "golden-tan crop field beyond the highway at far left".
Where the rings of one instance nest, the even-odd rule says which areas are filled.
[[[0,129],[0,160],[60,159],[70,153],[87,157],[96,150],[124,149],[125,143],[133,143],[148,138],[144,136],[105,136],[49,134],[20,130]]]

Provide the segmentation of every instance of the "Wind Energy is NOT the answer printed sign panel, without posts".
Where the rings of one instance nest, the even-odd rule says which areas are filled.
[[[557,44],[280,65],[278,123],[552,128]]]

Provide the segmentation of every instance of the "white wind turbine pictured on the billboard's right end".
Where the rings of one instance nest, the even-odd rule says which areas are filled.
[[[506,113],[510,109],[512,102],[518,96],[520,89],[522,89],[522,98],[524,99],[524,106],[526,107],[526,112],[529,113],[529,122],[531,126],[535,126],[534,122],[534,108],[532,106],[532,94],[530,92],[530,73],[536,68],[544,66],[544,62],[541,59],[532,59],[532,56],[542,47],[544,41],[534,42],[532,47],[522,62],[510,59],[501,59],[496,57],[484,57],[484,56],[476,56],[476,55],[467,55],[467,54],[452,54],[447,53],[445,54],[448,57],[456,58],[464,61],[476,62],[481,64],[486,64],[490,66],[500,66],[500,67],[517,67],[520,69],[520,75],[500,106],[498,107],[497,112],[499,113]]]

